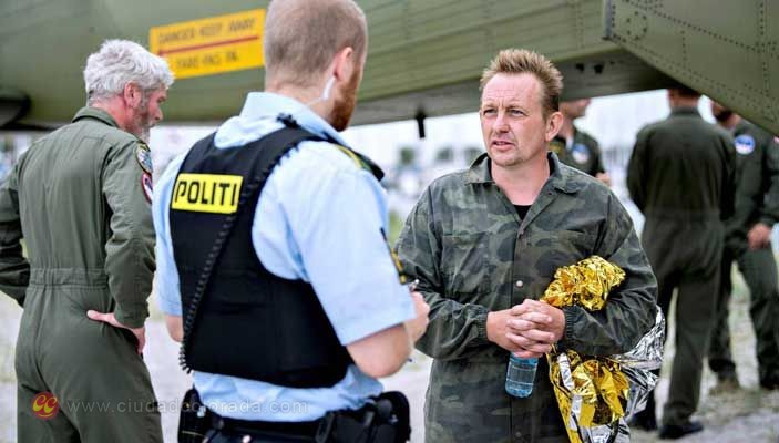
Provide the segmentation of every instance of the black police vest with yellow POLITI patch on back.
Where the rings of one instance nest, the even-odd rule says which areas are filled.
[[[270,274],[252,241],[257,200],[278,161],[304,140],[326,141],[291,119],[281,121],[287,127],[235,148],[216,148],[212,134],[192,147],[178,172],[170,219],[184,316],[193,309],[217,236],[227,234],[226,220],[236,217],[192,318],[184,356],[196,371],[295,388],[331,387],[346,375],[351,358],[314,288]],[[359,154],[338,147],[373,168]],[[258,186],[238,205],[252,182]]]

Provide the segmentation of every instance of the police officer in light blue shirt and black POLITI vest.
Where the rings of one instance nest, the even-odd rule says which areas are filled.
[[[264,52],[266,92],[156,187],[158,297],[211,442],[356,441],[380,415],[376,379],[407,361],[429,309],[401,285],[378,167],[338,134],[365,14],[352,0],[275,0]]]

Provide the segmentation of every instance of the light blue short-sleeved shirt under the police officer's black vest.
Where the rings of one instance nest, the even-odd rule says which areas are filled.
[[[346,146],[327,122],[300,102],[253,92],[240,114],[217,130],[216,147],[239,148],[280,128],[283,124],[276,121],[279,113],[291,114],[304,128],[327,134]],[[182,305],[168,208],[184,156],[172,161],[160,178],[152,207],[157,298],[160,308],[172,316],[182,315]],[[414,317],[409,291],[400,285],[381,234],[381,229],[388,231],[388,224],[385,190],[376,177],[329,143],[303,142],[268,177],[257,204],[252,240],[270,272],[311,284],[338,340],[346,346]],[[316,420],[327,411],[359,409],[368,396],[382,390],[378,380],[355,364],[331,388],[287,388],[197,371],[194,382],[209,409],[223,416],[254,421]]]

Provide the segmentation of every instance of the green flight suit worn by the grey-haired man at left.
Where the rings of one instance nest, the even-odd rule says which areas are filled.
[[[141,164],[146,150],[107,113],[84,107],[33,143],[0,189],[0,290],[23,308],[19,442],[162,442],[135,337],[86,317],[89,309],[114,312],[137,328],[148,316],[154,229],[151,171]],[[44,391],[60,404],[50,420],[32,409]]]

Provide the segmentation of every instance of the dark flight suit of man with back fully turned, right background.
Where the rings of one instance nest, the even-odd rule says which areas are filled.
[[[636,136],[627,188],[646,217],[642,243],[657,277],[657,303],[666,317],[678,288],[676,356],[664,424],[685,424],[698,405],[719,291],[721,219],[732,213],[735,176],[732,138],[706,123],[695,109],[675,109],[667,120]],[[650,396],[643,413],[654,418],[654,409]]]

